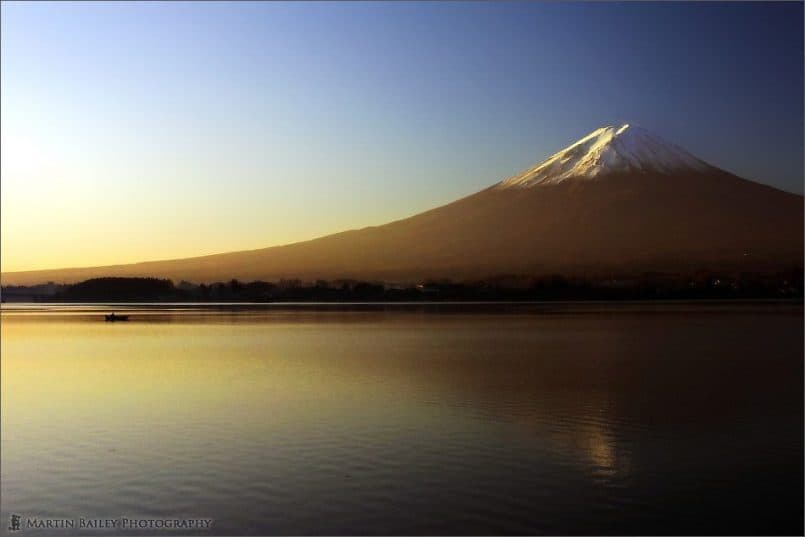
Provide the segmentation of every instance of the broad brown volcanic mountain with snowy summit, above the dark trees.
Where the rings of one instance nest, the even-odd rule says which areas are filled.
[[[802,218],[802,196],[741,179],[624,125],[598,129],[486,190],[386,225],[206,257],[6,273],[3,281],[778,269],[802,261]]]

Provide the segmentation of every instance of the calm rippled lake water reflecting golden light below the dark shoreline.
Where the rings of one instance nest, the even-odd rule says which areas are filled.
[[[2,531],[803,531],[801,304],[112,309],[4,306]]]

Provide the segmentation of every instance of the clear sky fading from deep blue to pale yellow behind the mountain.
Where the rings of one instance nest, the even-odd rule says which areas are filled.
[[[3,271],[378,225],[625,122],[803,192],[802,3],[0,9]]]

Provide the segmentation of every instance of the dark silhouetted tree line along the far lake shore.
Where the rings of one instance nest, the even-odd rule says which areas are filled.
[[[802,298],[802,268],[773,274],[644,273],[581,278],[497,276],[453,282],[388,283],[287,279],[174,284],[158,278],[93,278],[80,283],[2,287],[3,301],[48,302],[399,302],[440,300],[661,300]]]

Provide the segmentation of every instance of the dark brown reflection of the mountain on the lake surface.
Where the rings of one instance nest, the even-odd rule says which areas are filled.
[[[431,402],[428,412],[508,424],[513,434],[544,440],[552,457],[585,460],[602,481],[629,478],[635,467],[673,480],[674,469],[704,464],[701,450],[723,449],[718,456],[734,461],[758,451],[790,460],[801,450],[801,426],[781,425],[802,418],[796,305],[782,313],[684,304],[633,313],[576,308],[505,323],[423,319],[407,327],[416,336],[383,330],[398,350],[382,359],[343,357],[325,367],[335,377],[346,368],[361,383],[416,393]],[[576,334],[567,331],[568,314]],[[448,345],[428,344],[444,333]],[[647,469],[654,458],[667,468]]]

